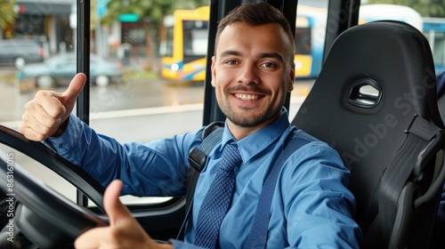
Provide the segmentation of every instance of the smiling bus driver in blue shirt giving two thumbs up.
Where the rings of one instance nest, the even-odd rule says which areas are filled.
[[[222,142],[200,173],[184,243],[153,242],[117,197],[119,192],[184,195],[188,152],[200,144],[203,128],[145,145],[121,145],[69,116],[85,76],[77,75],[67,92],[37,92],[27,104],[20,130],[30,140],[44,140],[104,186],[109,185],[104,205],[110,226],[85,232],[76,246],[196,248],[198,213],[217,178],[223,150],[229,147],[237,148],[242,162],[234,171],[236,186],[214,238],[217,245],[209,247],[246,246],[263,181],[282,154],[285,141],[302,133],[290,126],[287,110],[282,108],[287,92],[293,90],[293,60],[292,32],[281,12],[271,5],[242,4],[221,20],[212,58],[212,85],[227,119]],[[288,157],[273,194],[267,248],[358,248],[361,232],[352,220],[355,201],[346,188],[348,177],[336,151],[321,141],[312,141]]]

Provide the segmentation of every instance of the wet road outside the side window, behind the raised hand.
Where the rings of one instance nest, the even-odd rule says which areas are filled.
[[[0,89],[0,122],[20,120],[26,102],[32,100],[36,91],[42,90],[37,88],[20,93],[15,82],[15,72],[6,68],[0,68]],[[65,89],[59,87],[52,90],[64,92]],[[169,84],[162,79],[132,78],[130,75],[120,84],[107,87],[92,85],[91,112],[202,103],[203,89],[202,85]]]

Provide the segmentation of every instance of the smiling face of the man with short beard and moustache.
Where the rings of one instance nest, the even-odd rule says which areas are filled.
[[[285,41],[278,24],[236,22],[223,29],[212,59],[212,85],[230,123],[261,128],[280,115],[295,76],[285,61]]]

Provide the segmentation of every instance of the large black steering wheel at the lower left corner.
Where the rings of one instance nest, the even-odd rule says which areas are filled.
[[[77,165],[71,164],[44,144],[28,141],[20,132],[1,124],[0,143],[58,173],[104,210],[102,197],[105,189]],[[0,176],[3,176],[0,177],[0,189],[6,193],[7,200],[17,200],[19,203],[17,206],[8,203],[10,210],[15,208],[10,219],[13,218],[15,226],[41,248],[66,248],[86,229],[109,225],[108,221],[74,204],[43,182],[36,181],[3,152],[0,153]]]

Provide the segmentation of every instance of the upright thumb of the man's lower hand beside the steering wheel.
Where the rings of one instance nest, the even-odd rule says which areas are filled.
[[[109,215],[110,226],[115,226],[119,221],[127,218],[133,219],[132,214],[119,200],[122,185],[120,180],[111,181],[103,194],[103,205],[105,212]]]

